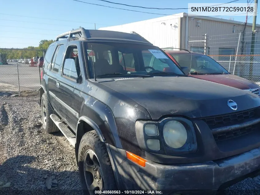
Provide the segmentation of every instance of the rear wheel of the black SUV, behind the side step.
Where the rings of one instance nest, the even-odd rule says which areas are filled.
[[[50,107],[50,103],[47,99],[45,93],[42,94],[41,100],[41,109],[42,109],[42,127],[47,133],[53,133],[59,131],[58,127],[51,120],[50,115],[54,114],[54,111]]]

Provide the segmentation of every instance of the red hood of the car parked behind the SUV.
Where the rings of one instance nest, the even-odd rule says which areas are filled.
[[[211,81],[214,83],[220,83],[223,85],[228,85],[230,87],[235,87],[238,89],[256,89],[258,86],[247,80],[243,79],[239,76],[228,74],[228,75],[190,75],[192,77],[203,79],[207,81]]]

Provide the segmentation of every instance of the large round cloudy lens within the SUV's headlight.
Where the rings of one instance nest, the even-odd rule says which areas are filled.
[[[171,120],[163,127],[163,137],[171,148],[181,148],[187,141],[187,131],[183,124]]]

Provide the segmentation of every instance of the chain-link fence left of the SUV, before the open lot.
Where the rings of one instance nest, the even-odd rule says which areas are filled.
[[[41,56],[20,56],[19,59],[8,59],[12,57],[10,55],[12,50],[5,50],[5,55],[3,55],[3,50],[1,51],[0,92],[17,91],[20,93],[20,91],[38,90],[41,84],[42,67],[37,58],[43,57],[44,51],[40,52]]]

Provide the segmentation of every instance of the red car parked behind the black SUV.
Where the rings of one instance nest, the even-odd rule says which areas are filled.
[[[260,95],[259,85],[230,74],[224,67],[207,55],[191,53],[190,51],[164,51],[189,76],[236,87]]]

